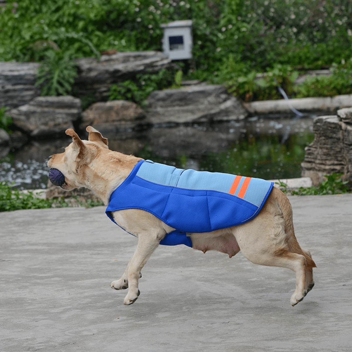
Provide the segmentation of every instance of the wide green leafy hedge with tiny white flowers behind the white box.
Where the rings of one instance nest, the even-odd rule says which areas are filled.
[[[160,25],[192,19],[194,78],[218,75],[230,54],[257,71],[320,68],[352,56],[351,12],[350,0],[21,0],[0,13],[0,60],[39,60],[38,40],[77,57],[162,50]]]

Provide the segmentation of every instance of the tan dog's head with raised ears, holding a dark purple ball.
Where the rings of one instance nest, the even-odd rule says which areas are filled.
[[[81,140],[77,133],[69,128],[66,134],[72,137],[72,143],[63,153],[49,157],[50,181],[64,190],[90,188],[87,175],[90,166],[98,155],[108,150],[108,140],[103,138],[99,131],[88,126],[87,132],[89,132],[88,140]]]

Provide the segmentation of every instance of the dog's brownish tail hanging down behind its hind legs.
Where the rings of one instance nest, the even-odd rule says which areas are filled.
[[[288,250],[291,253],[297,253],[304,256],[306,258],[308,270],[311,270],[312,268],[316,268],[316,265],[314,263],[314,260],[312,259],[310,252],[308,250],[302,249],[296,239],[295,230],[293,227],[292,207],[287,196],[275,187],[272,189],[272,191],[276,193],[275,195],[284,218],[284,222],[285,222],[284,230],[286,234],[286,242],[287,242]]]

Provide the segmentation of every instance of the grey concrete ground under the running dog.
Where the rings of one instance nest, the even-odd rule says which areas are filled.
[[[137,239],[103,207],[0,213],[0,350],[351,351],[352,194],[290,201],[318,266],[295,307],[293,272],[183,245],[155,251],[124,306],[109,284]]]

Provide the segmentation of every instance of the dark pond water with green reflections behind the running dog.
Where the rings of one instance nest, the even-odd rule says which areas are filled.
[[[313,117],[252,117],[212,124],[160,125],[100,131],[109,148],[181,168],[228,172],[264,179],[301,176],[304,147],[314,135]],[[86,138],[82,132],[81,138]],[[69,137],[36,140],[0,159],[0,182],[18,189],[46,188],[46,160]]]

